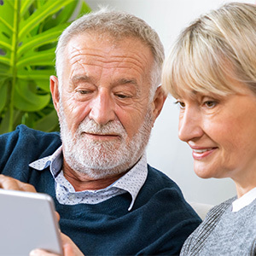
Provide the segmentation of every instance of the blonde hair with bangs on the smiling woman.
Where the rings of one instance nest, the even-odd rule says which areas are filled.
[[[177,38],[166,58],[162,84],[183,91],[223,96],[236,91],[230,79],[256,94],[256,5],[227,3],[201,16]]]

